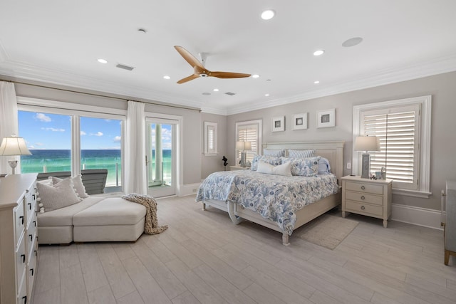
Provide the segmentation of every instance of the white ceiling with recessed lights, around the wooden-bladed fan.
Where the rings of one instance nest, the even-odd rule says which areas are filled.
[[[0,74],[229,115],[456,70],[455,12],[454,0],[1,0]],[[193,69],[176,45],[260,77],[177,84]]]

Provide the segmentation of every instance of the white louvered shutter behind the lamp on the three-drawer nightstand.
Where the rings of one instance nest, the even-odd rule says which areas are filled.
[[[369,152],[371,172],[385,167],[393,187],[418,189],[420,105],[363,112],[360,131],[380,140],[380,151]]]

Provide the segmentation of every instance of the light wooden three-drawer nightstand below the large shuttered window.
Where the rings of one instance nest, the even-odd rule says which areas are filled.
[[[342,217],[346,212],[383,219],[388,226],[391,216],[393,179],[362,179],[342,177]]]

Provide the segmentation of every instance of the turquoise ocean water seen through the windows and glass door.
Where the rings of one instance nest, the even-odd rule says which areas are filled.
[[[71,171],[71,150],[30,150],[21,156],[22,173]],[[117,164],[117,169],[116,169]],[[122,177],[120,150],[81,150],[81,169],[108,169],[106,187],[116,186]],[[155,169],[155,150],[152,150],[152,170]],[[171,150],[163,150],[163,175],[171,176]]]

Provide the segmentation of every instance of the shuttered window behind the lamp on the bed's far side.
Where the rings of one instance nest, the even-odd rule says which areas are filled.
[[[236,141],[250,142],[252,150],[247,151],[246,161],[252,162],[255,154],[261,151],[261,120],[250,120],[245,122],[236,122]],[[236,150],[237,162],[241,159],[241,152]]]

